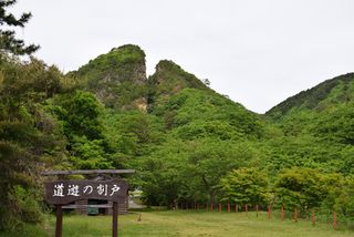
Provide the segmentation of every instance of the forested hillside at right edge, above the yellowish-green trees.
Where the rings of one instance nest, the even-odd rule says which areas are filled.
[[[295,143],[291,154],[283,153],[293,156],[299,165],[353,174],[353,73],[327,80],[285,100],[267,112],[266,117],[290,140],[287,144]]]

